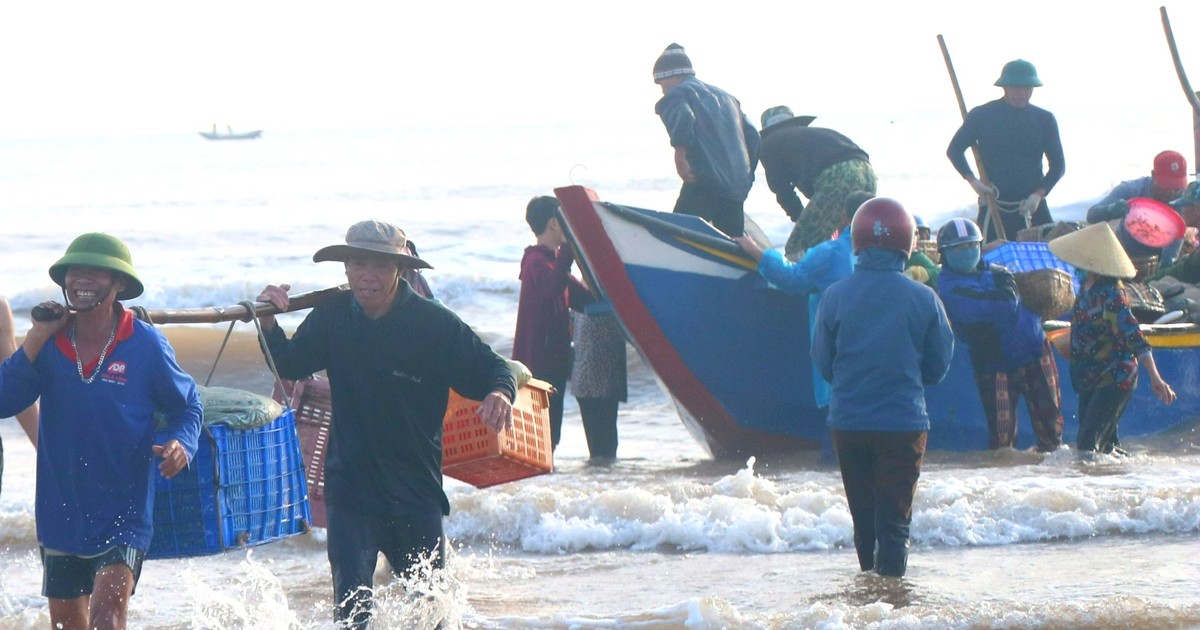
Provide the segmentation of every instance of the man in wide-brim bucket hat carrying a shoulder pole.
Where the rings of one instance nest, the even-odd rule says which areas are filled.
[[[280,376],[325,370],[334,422],[325,466],[329,564],[335,618],[362,628],[380,552],[403,575],[421,557],[445,562],[442,421],[451,388],[482,401],[497,432],[511,425],[516,383],[506,361],[440,304],[401,278],[428,268],[406,253],[404,230],[382,221],[350,226],[346,242],[314,262],[341,262],[350,290],[310,312],[292,338],[274,317],[259,322]],[[259,295],[281,311],[288,284]]]

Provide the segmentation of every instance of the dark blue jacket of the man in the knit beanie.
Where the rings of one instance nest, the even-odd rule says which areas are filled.
[[[671,146],[688,149],[696,184],[727,199],[745,200],[758,167],[758,130],[738,100],[696,77],[667,90],[654,106]]]

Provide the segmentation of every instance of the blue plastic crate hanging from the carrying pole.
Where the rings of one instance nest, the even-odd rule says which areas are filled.
[[[262,545],[304,533],[311,521],[290,409],[248,431],[212,425],[202,432],[192,466],[155,482],[148,557],[208,556]]]

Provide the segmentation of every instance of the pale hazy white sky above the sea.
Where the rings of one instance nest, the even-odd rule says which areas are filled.
[[[1187,115],[1162,4],[6,2],[0,134],[646,119],[673,41],[755,121],[778,103],[956,114],[937,34],[968,106],[1025,58],[1038,104],[1172,100]],[[1200,2],[1166,6],[1200,84]]]

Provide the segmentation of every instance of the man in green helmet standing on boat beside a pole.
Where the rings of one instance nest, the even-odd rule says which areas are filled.
[[[947,157],[962,179],[979,194],[979,217],[984,240],[996,239],[986,200],[997,199],[1004,235],[1016,240],[1016,233],[1031,226],[1052,223],[1045,197],[1067,172],[1054,114],[1030,104],[1033,88],[1042,86],[1033,64],[1018,59],[1004,64],[996,85],[1004,96],[972,109],[954,133]],[[990,184],[971,170],[966,150],[978,144],[983,169]],[[1043,157],[1049,170],[1043,173]]]

